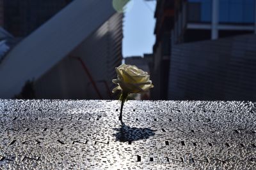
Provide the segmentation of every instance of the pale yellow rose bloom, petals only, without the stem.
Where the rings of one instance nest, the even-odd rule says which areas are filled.
[[[154,87],[152,81],[149,80],[147,72],[138,69],[136,66],[122,64],[116,67],[117,79],[113,79],[113,83],[117,84],[112,92],[122,90],[125,94],[147,92],[148,89]]]

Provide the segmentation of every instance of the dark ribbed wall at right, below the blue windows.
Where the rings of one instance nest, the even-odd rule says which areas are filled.
[[[256,35],[175,45],[168,98],[256,100]]]

